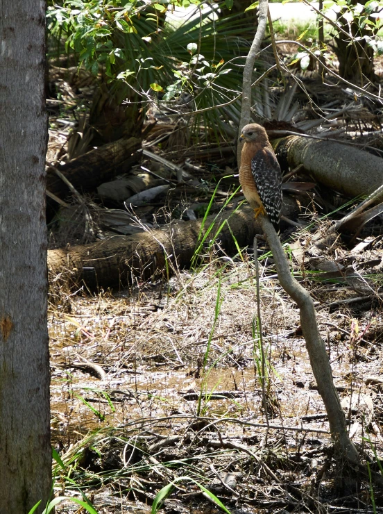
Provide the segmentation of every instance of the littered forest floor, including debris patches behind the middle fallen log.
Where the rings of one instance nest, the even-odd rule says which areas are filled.
[[[306,85],[316,88],[311,77]],[[71,85],[62,80],[60,88],[60,98],[73,107]],[[335,87],[332,92],[338,108],[345,94]],[[79,94],[90,101],[92,90]],[[339,117],[335,128],[343,124],[353,137],[359,128],[361,134],[365,111],[352,125]],[[62,111],[51,115],[50,161],[65,157],[77,122],[70,113],[63,118]],[[144,144],[182,161],[188,185],[135,210],[138,224],[152,230],[174,217],[201,217],[213,194],[209,208],[220,210],[238,187],[234,143],[196,148],[200,158],[185,159],[182,138],[174,147],[155,144],[164,133],[172,135],[167,120],[158,127]],[[134,171],[147,169],[175,179],[151,158]],[[303,174],[299,180],[312,179]],[[167,514],[207,514],[223,506],[233,514],[383,513],[376,478],[383,474],[382,215],[357,237],[345,231],[332,240],[324,260],[338,267],[329,272],[310,254],[313,233],[325,235],[327,217],[343,215],[358,200],[319,185],[288,196],[302,225],[282,224],[281,240],[291,272],[314,299],[350,437],[368,456],[371,474],[334,455],[299,313],[278,283],[262,237],[261,324],[251,243],[226,254],[217,238],[190,270],[162,270],[121,290],[51,283],[51,426],[61,459],[54,467],[56,495],[86,497],[99,514],[155,512],[160,491]],[[236,208],[242,199],[237,192],[226,207]],[[100,199],[94,192],[86,200]],[[76,199],[72,204],[78,207]],[[84,242],[80,218],[68,229],[62,210],[51,217],[51,247]],[[99,235],[108,238],[113,231],[104,228]],[[354,273],[346,276],[339,266]],[[76,508],[64,502],[56,511]]]

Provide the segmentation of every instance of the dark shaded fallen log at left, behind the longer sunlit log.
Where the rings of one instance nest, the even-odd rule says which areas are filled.
[[[87,154],[65,165],[58,165],[57,168],[76,190],[90,192],[96,190],[101,183],[112,180],[114,176],[125,172],[137,163],[142,155],[139,149],[141,149],[141,140],[119,139],[88,151]],[[49,171],[49,167],[46,188],[51,194],[62,199],[69,194],[68,186],[54,172]]]

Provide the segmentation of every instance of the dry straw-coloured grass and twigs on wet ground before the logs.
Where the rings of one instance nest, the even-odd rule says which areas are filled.
[[[69,477],[86,488],[100,513],[130,512],[134,505],[148,512],[145,503],[185,475],[237,513],[371,505],[366,477],[359,489],[337,481],[341,469],[329,456],[328,424],[298,311],[272,278],[271,263],[261,273],[262,323],[269,422],[280,428],[266,429],[255,358],[255,267],[243,255],[216,257],[197,272],[177,272],[169,283],[137,283],[114,296],[69,297],[67,291],[65,297],[62,290],[71,312],[51,307],[53,442],[70,463]],[[314,285],[314,294],[328,288]],[[363,438],[371,439],[380,453],[380,386],[366,385],[366,376],[381,372],[379,331],[368,331],[382,326],[382,318],[343,306],[331,316],[320,310],[318,322],[340,395],[355,402],[352,438],[364,447]],[[97,370],[90,363],[103,368],[102,379],[92,376]],[[64,473],[61,481],[71,488]],[[177,487],[165,501],[167,511],[214,511],[193,482]]]

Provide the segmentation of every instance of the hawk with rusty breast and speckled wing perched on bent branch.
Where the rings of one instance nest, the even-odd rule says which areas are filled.
[[[239,182],[246,200],[259,214],[267,215],[275,230],[279,229],[280,210],[282,208],[282,174],[263,126],[256,123],[242,128]]]

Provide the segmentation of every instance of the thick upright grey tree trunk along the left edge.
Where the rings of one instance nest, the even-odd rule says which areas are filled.
[[[45,1],[0,0],[0,512],[51,494]]]

